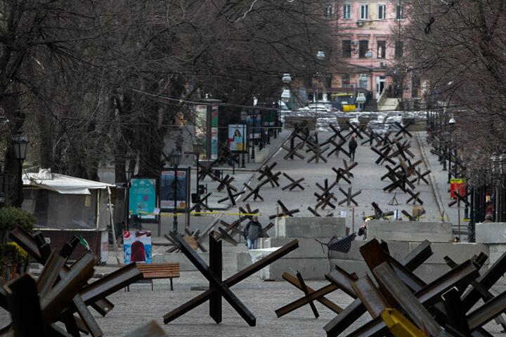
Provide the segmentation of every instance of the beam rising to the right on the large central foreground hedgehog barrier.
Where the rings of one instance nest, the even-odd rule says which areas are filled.
[[[249,265],[249,267],[246,267],[245,269],[241,270],[240,272],[235,273],[233,276],[228,277],[223,284],[226,284],[228,287],[234,286],[235,284],[238,284],[242,280],[246,279],[247,277],[253,275],[255,272],[258,272],[262,268],[266,267],[267,265],[270,265],[275,260],[278,260],[282,258],[283,256],[287,255],[291,251],[294,251],[294,249],[297,249],[299,247],[299,242],[297,239],[292,240],[291,242],[285,244],[285,246],[280,247],[280,249],[277,249],[276,251],[273,251],[268,256],[265,256],[264,258],[261,258],[257,262],[253,263],[252,265]],[[205,303],[211,295],[214,293],[213,289],[209,289],[203,293],[201,293],[199,296],[193,298],[192,300],[189,300],[188,302],[184,303],[183,305],[179,306],[178,308],[172,310],[171,312],[168,312],[166,315],[164,315],[164,323],[167,324],[174,319],[181,317],[182,315],[186,314],[186,312],[197,308],[202,303]]]

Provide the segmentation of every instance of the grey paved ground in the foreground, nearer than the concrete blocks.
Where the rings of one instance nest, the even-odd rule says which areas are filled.
[[[228,277],[235,273],[235,253],[246,251],[246,248],[226,243],[223,248],[223,277]],[[98,269],[105,270],[104,267]],[[313,289],[318,289],[327,282],[310,281],[307,284]],[[276,318],[274,310],[301,297],[301,291],[286,282],[264,282],[254,275],[231,289],[257,317],[256,327],[249,327],[224,300],[221,324],[214,324],[209,317],[207,303],[170,324],[163,324],[162,315],[201,292],[190,290],[193,286],[207,286],[207,282],[199,272],[181,272],[181,278],[174,280],[174,291],[169,290],[168,280],[155,280],[154,291],[151,291],[150,284],[134,284],[130,292],[117,291],[108,297],[115,303],[115,308],[106,317],[91,311],[105,336],[124,336],[136,326],[153,319],[163,327],[168,336],[325,336],[323,326],[335,317],[330,310],[316,303],[316,308],[320,312],[318,319],[313,318],[309,307],[301,308],[280,319]],[[342,307],[351,302],[351,298],[341,291],[330,293],[327,298]],[[363,315],[345,333],[358,328],[368,319],[368,315]],[[7,322],[9,322],[7,313],[0,309],[0,325],[3,326]],[[504,336],[500,333],[499,327],[493,323],[489,323],[486,328],[494,336]]]

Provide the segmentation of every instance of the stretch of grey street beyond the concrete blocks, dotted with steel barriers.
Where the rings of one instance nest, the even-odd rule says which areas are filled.
[[[319,133],[320,140],[326,140],[332,133],[330,132],[320,132]],[[360,142],[358,142],[360,143]],[[423,145],[423,142],[422,142]],[[345,147],[347,150],[347,147]],[[410,151],[415,154],[414,161],[418,159],[422,159],[420,154],[420,145],[418,143],[417,138],[413,138],[411,140]],[[429,152],[426,150],[426,152]],[[285,150],[279,150],[275,156],[269,161],[269,164],[274,161],[278,164],[273,169],[274,172],[282,171],[287,173],[289,176],[294,178],[295,180],[299,178],[304,178],[304,181],[301,183],[304,186],[304,191],[299,189],[295,189],[292,192],[290,191],[281,191],[281,187],[290,183],[285,177],[281,177],[280,184],[281,187],[273,188],[270,184],[264,185],[261,188],[260,194],[264,197],[264,201],[252,201],[249,199],[247,202],[252,205],[252,208],[259,208],[261,212],[261,222],[266,225],[268,223],[267,217],[276,213],[276,201],[281,200],[283,204],[287,206],[288,209],[299,209],[299,213],[296,216],[311,216],[311,212],[308,210],[308,206],[314,208],[316,205],[317,199],[314,196],[314,192],[320,193],[318,187],[316,187],[316,183],[323,185],[325,178],[329,180],[331,183],[335,180],[335,173],[332,171],[332,167],[338,169],[339,167],[344,167],[343,159],[349,161],[344,154],[339,154],[336,157],[332,154],[327,158],[327,163],[320,161],[319,164],[316,164],[314,161],[311,163],[307,163],[307,158],[310,157],[308,154],[304,154],[306,159],[297,159],[295,157],[294,160],[284,160],[283,157],[287,152]],[[377,159],[377,154],[370,150],[370,147],[367,145],[359,145],[356,150],[356,161],[358,162],[358,166],[354,168],[351,172],[353,173],[353,178],[351,178],[351,187],[352,192],[356,192],[361,190],[361,194],[359,194],[355,199],[358,202],[358,206],[346,206],[346,204],[342,206],[336,206],[335,210],[330,208],[326,208],[320,213],[326,214],[327,212],[334,213],[335,216],[339,216],[342,211],[346,212],[346,224],[349,227],[356,228],[358,225],[363,223],[363,216],[369,216],[374,214],[374,209],[371,206],[371,203],[375,201],[382,211],[401,211],[406,210],[408,213],[411,213],[412,205],[407,205],[406,201],[409,199],[409,195],[402,192],[401,190],[396,190],[396,192],[383,192],[383,187],[389,185],[391,182],[388,178],[383,181],[380,178],[387,173],[387,169],[384,166],[380,166],[375,164]],[[429,163],[430,164],[430,163]],[[420,166],[422,167],[422,171],[426,171],[427,168],[424,167],[424,163]],[[430,168],[432,169],[432,168]],[[439,169],[439,168],[437,168]],[[258,176],[258,173],[257,175]],[[257,178],[253,178],[252,183],[250,184],[252,187],[255,187],[258,183]],[[347,184],[344,180],[339,182],[339,187],[342,187],[343,190],[347,192],[348,187],[350,185]],[[339,187],[334,187],[332,192],[335,193],[338,201],[344,199],[344,194],[339,192]],[[420,184],[416,185],[416,191],[420,192],[420,199],[424,201],[424,209],[426,210],[426,214],[423,219],[427,221],[435,221],[440,219],[439,206],[436,203],[436,194],[432,190],[432,186]],[[389,204],[392,199],[396,197],[398,201],[398,205]],[[239,199],[242,201],[242,198]],[[238,204],[240,206],[241,204]],[[237,208],[236,208],[237,209]],[[352,214],[354,213],[354,217]]]

